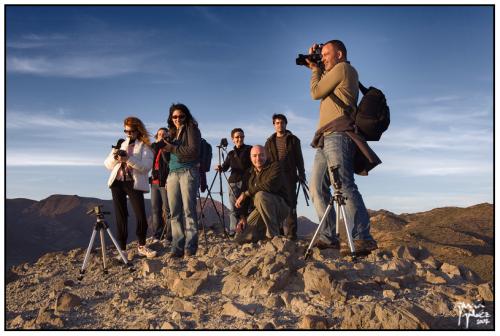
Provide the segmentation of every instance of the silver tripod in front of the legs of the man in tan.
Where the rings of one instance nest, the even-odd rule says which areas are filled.
[[[330,201],[328,202],[328,207],[325,210],[325,213],[323,214],[323,218],[321,218],[321,221],[319,222],[318,228],[316,229],[316,232],[314,233],[314,236],[309,243],[309,247],[306,250],[306,254],[304,255],[304,259],[307,259],[309,257],[309,254],[311,252],[311,248],[314,245],[314,242],[316,241],[316,237],[318,236],[319,231],[321,230],[321,227],[325,223],[325,220],[328,218],[328,215],[330,214],[330,211],[332,210],[332,207],[334,206],[335,203],[335,214],[336,214],[336,235],[337,238],[339,236],[339,224],[340,224],[340,215],[342,215],[342,218],[344,219],[344,224],[345,224],[345,230],[346,230],[346,236],[347,236],[347,241],[349,243],[349,248],[351,249],[351,255],[353,257],[356,256],[356,250],[354,248],[354,242],[352,240],[352,228],[353,225],[349,223],[347,220],[347,215],[345,211],[345,200],[347,199],[344,197],[342,194],[342,181],[340,181],[339,177],[339,172],[338,172],[339,166],[332,166],[330,167],[330,171],[332,172],[333,175],[333,187],[335,189],[335,192],[333,196],[330,198]]]

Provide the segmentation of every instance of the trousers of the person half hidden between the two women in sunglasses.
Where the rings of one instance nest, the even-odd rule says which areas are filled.
[[[151,211],[153,213],[153,235],[160,238],[165,225],[165,237],[172,240],[172,229],[170,226],[170,207],[168,206],[167,189],[158,184],[151,184]],[[165,213],[166,220],[163,219]]]

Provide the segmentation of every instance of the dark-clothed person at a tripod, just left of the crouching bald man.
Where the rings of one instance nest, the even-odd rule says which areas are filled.
[[[231,140],[234,148],[227,154],[222,165],[217,165],[215,170],[225,172],[231,168],[231,175],[228,178],[229,183],[229,203],[231,212],[229,214],[229,235],[233,237],[236,233],[236,225],[241,216],[238,208],[235,207],[236,200],[242,190],[247,189],[248,171],[252,167],[250,162],[250,150],[252,146],[244,144],[245,133],[241,128],[235,128],[231,131]]]

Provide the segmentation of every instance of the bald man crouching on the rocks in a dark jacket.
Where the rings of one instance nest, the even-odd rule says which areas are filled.
[[[278,236],[280,223],[290,212],[286,181],[280,163],[270,163],[265,148],[260,145],[252,147],[250,160],[253,167],[248,190],[238,197],[235,206],[241,209],[248,207],[250,201],[253,201],[255,209],[248,216],[242,216],[236,226],[235,240],[240,244]]]

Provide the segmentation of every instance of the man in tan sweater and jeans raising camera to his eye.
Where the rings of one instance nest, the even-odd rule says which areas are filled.
[[[309,54],[317,53],[320,46],[314,44]],[[320,64],[307,59],[311,72],[311,97],[321,100],[319,124],[313,147],[317,148],[311,175],[311,198],[318,217],[321,219],[331,198],[330,185],[333,177],[329,167],[338,166],[342,192],[347,198],[346,212],[353,224],[352,237],[358,254],[368,254],[377,248],[370,234],[370,218],[365,204],[354,183],[354,157],[356,143],[348,132],[354,130],[350,115],[336,103],[336,99],[356,109],[358,101],[358,73],[347,61],[347,49],[339,40],[331,40],[321,48]],[[335,235],[335,211],[329,214],[319,233],[315,246],[339,248]],[[340,246],[343,254],[348,253],[347,244]]]

